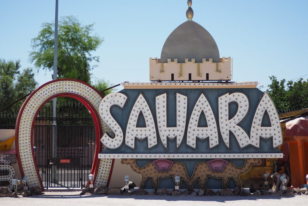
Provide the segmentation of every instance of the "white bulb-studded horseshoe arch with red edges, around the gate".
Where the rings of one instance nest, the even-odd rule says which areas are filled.
[[[98,159],[98,153],[102,149],[102,144],[100,144],[99,140],[103,134],[102,126],[104,127],[99,117],[98,109],[103,96],[93,86],[75,79],[57,79],[47,82],[34,90],[22,104],[17,116],[15,130],[17,160],[22,177],[28,177],[28,187],[39,186],[44,189],[39,170],[36,166],[33,150],[34,120],[40,108],[47,101],[58,96],[77,99],[90,111],[95,126],[95,152],[91,174],[94,174],[95,184],[105,183],[105,185],[107,184],[108,186],[113,160],[101,159],[99,161]],[[107,164],[100,164],[102,161],[107,162]],[[102,165],[107,168],[101,168]],[[104,171],[105,174],[107,172],[107,176],[102,177],[102,175],[100,175],[100,177],[97,177],[98,171],[101,170]]]

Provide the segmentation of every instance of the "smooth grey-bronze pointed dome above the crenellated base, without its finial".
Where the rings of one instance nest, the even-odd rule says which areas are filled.
[[[160,62],[177,59],[178,63],[185,63],[185,59],[191,61],[192,58],[196,63],[201,63],[203,58],[219,62],[219,51],[215,40],[205,28],[194,21],[186,21],[168,36],[161,50]]]

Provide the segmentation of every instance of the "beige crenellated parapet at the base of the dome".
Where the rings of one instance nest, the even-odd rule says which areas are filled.
[[[231,57],[222,57],[217,63],[213,59],[202,59],[202,63],[195,63],[195,59],[185,59],[185,63],[168,59],[161,63],[158,58],[150,58],[150,81],[229,81],[231,62]]]

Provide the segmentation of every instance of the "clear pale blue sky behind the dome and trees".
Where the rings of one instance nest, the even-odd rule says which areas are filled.
[[[95,23],[95,33],[104,38],[93,52],[100,56],[94,78],[149,82],[149,57],[160,58],[168,35],[187,20],[187,7],[186,0],[59,0],[59,18],[74,15],[83,24]],[[271,75],[308,78],[308,1],[193,0],[192,8],[193,21],[210,32],[220,56],[233,58],[233,81],[265,87]],[[55,0],[2,0],[0,18],[0,58],[33,67],[31,39],[42,23],[55,19]],[[51,72],[40,71],[35,78],[41,85],[51,80]]]

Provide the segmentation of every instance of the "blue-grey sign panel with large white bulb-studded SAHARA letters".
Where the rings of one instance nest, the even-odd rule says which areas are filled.
[[[276,108],[256,88],[124,89],[103,98],[99,115],[114,133],[101,138],[100,158],[282,155]]]

